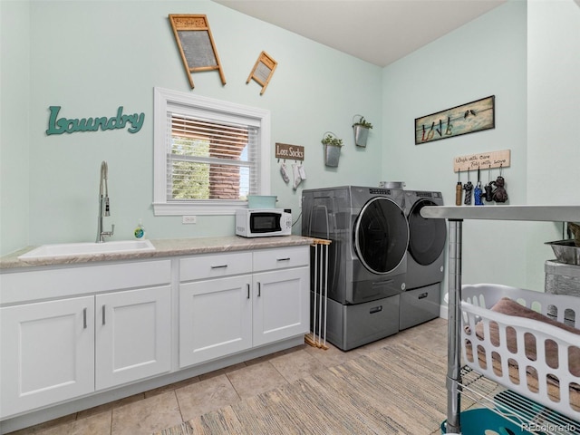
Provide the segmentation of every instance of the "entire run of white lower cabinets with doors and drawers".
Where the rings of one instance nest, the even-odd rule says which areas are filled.
[[[0,420],[294,345],[309,330],[309,256],[277,247],[3,271]]]

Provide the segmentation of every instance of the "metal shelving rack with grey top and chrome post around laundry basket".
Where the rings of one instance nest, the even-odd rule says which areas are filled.
[[[461,366],[461,243],[464,219],[484,220],[520,220],[543,222],[576,222],[580,220],[580,206],[429,206],[421,208],[423,218],[445,218],[449,224],[449,322],[448,322],[448,353],[447,353],[447,433],[461,433],[460,411],[461,394],[497,411],[516,424],[522,424],[521,413],[515,416],[506,410],[501,412],[496,404],[488,399],[488,387],[482,384],[491,382],[482,375]],[[464,382],[466,381],[466,382]],[[495,383],[495,382],[492,382]],[[493,390],[492,390],[493,391]],[[556,416],[556,418],[553,418]],[[551,415],[529,416],[527,427],[540,422],[544,427],[558,427],[561,417]],[[540,420],[538,420],[540,419]],[[550,420],[552,419],[552,420]],[[566,419],[567,420],[567,419]],[[571,420],[570,420],[571,421]],[[571,421],[573,424],[577,422]],[[546,432],[560,434],[562,432]]]

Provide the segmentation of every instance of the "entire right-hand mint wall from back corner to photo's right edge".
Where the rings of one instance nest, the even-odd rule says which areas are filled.
[[[440,190],[453,205],[454,157],[511,150],[509,204],[580,203],[580,147],[570,128],[580,117],[579,15],[573,0],[510,0],[385,68],[383,179]],[[414,145],[415,118],[488,95],[496,96],[494,130]],[[544,242],[561,232],[561,224],[465,221],[463,282],[542,290],[554,257]]]

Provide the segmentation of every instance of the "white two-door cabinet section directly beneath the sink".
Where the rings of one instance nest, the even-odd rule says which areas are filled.
[[[171,286],[111,291],[115,285],[144,284],[143,275],[116,279],[123,270],[119,266],[50,269],[3,279],[3,291],[20,288],[25,303],[0,308],[0,418],[169,372]],[[170,282],[169,261],[140,267],[159,268],[147,278],[154,284]],[[97,282],[83,285],[81,277]],[[26,300],[43,288],[73,295],[88,286],[109,293]]]

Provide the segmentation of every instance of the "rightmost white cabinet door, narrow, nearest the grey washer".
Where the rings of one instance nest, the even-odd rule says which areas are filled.
[[[309,268],[254,275],[254,345],[309,330]]]

